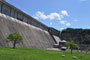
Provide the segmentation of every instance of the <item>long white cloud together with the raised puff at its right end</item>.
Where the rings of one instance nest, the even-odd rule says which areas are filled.
[[[36,19],[49,19],[49,20],[61,20],[64,16],[69,16],[69,14],[67,13],[66,10],[62,10],[61,14],[60,13],[56,13],[56,12],[52,12],[48,15],[44,14],[44,12],[41,11],[37,11],[36,14],[34,15],[34,18]]]

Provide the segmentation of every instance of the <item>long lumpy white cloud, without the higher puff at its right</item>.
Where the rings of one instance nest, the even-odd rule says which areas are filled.
[[[43,20],[46,20],[46,19],[49,19],[49,20],[61,20],[62,18],[62,15],[60,15],[59,13],[50,13],[49,15],[45,15],[44,12],[40,12],[40,11],[37,11],[36,14],[35,14],[35,18],[40,18],[40,19],[43,19]]]

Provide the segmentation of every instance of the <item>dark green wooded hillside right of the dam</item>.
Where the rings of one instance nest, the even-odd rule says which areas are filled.
[[[67,28],[61,32],[61,39],[74,40],[78,44],[90,44],[90,29]]]

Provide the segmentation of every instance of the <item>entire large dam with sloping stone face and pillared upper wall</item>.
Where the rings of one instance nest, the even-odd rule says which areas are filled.
[[[0,46],[10,46],[5,39],[11,33],[18,32],[23,37],[24,48],[52,48],[60,41],[60,31],[53,30],[6,1],[0,0]],[[54,33],[55,32],[55,33]]]

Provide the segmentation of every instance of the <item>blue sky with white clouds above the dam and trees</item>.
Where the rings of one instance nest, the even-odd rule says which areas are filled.
[[[90,0],[6,0],[49,27],[90,29]]]

